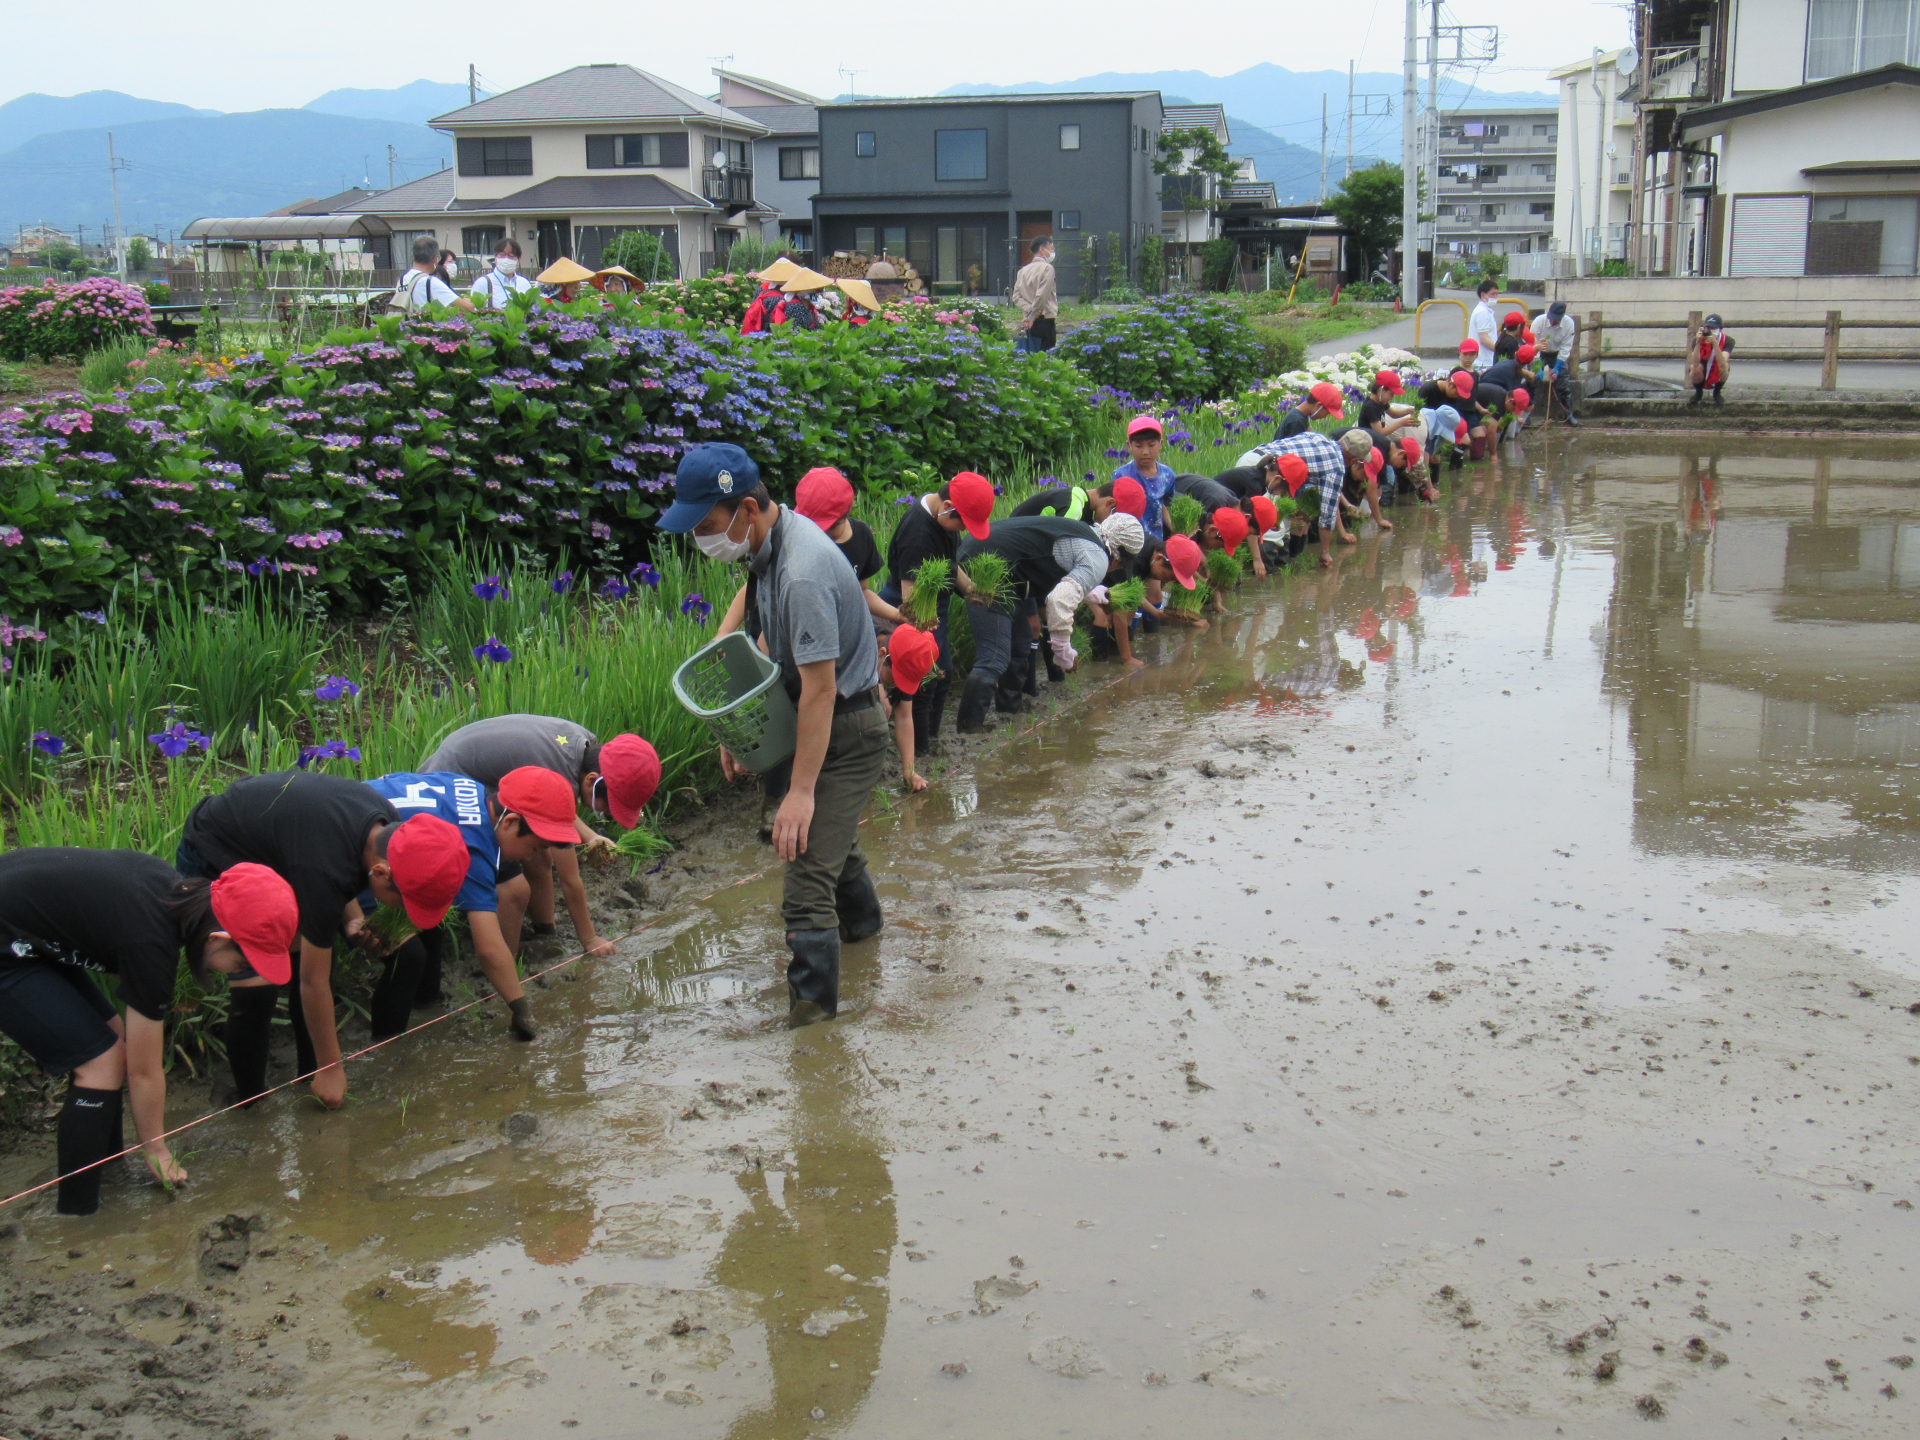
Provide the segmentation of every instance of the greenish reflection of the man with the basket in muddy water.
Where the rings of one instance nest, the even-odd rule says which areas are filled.
[[[747,1208],[720,1248],[714,1281],[758,1296],[774,1379],[768,1402],[741,1413],[730,1440],[843,1428],[879,1369],[899,1240],[893,1175],[860,1114],[862,1081],[843,1056],[839,1037],[795,1043],[793,1167],[739,1177]]]

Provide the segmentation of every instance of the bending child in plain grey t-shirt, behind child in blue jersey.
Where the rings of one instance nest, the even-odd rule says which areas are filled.
[[[639,824],[639,812],[660,787],[660,756],[639,735],[614,735],[603,745],[591,730],[557,714],[495,714],[474,720],[420,760],[420,770],[468,776],[488,789],[499,789],[499,781],[520,766],[551,770],[572,787],[580,808],[611,816],[620,829]],[[559,874],[580,948],[588,954],[612,954],[612,943],[593,929],[588,887],[580,879],[580,851],[611,851],[612,841],[582,820],[574,826],[574,845],[543,851],[526,862],[526,914],[536,935],[555,933],[553,877]],[[501,876],[503,883],[509,879],[511,874]],[[507,945],[520,948],[518,929],[507,935]]]

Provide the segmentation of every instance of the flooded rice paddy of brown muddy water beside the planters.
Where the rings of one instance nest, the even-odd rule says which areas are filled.
[[[205,1294],[276,1434],[1912,1434],[1920,488],[1676,444],[877,806],[841,1023],[755,879],[13,1263]]]

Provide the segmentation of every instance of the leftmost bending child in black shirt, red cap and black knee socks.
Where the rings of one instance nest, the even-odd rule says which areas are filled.
[[[121,1085],[154,1177],[186,1181],[161,1139],[180,950],[202,989],[209,970],[284,981],[298,924],[294,891],[267,866],[207,883],[140,851],[0,856],[0,1035],[69,1077],[56,1139],[61,1215],[100,1208],[98,1164],[127,1148]],[[125,1020],[88,972],[113,975]]]

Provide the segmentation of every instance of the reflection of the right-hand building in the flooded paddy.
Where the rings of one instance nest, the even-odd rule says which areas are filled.
[[[1619,522],[1605,685],[1628,712],[1636,841],[1910,868],[1912,492],[1830,459],[1761,467],[1684,459],[1676,511]]]

